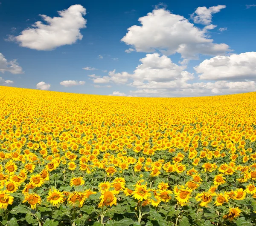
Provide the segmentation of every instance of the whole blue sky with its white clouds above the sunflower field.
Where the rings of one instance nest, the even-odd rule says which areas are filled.
[[[86,94],[164,97],[256,90],[255,1],[0,2],[0,85]],[[65,11],[67,19],[58,23],[72,23],[70,27],[64,25],[70,38],[66,44],[65,40],[58,44],[63,36],[58,31],[61,24],[55,23],[55,29],[51,29],[39,15],[61,18],[58,11],[71,9],[71,6],[80,16],[73,18]],[[148,13],[151,16],[147,16]],[[143,25],[138,21],[141,17],[145,18]],[[79,25],[85,23],[82,18],[86,20],[86,27]],[[53,41],[47,40],[49,35],[45,32],[37,34],[40,29],[34,25],[37,21],[48,26]],[[26,29],[33,30],[34,36],[21,33]],[[74,32],[80,33],[82,38],[76,38]],[[126,38],[121,41],[123,37]],[[70,44],[72,39],[75,41]],[[215,45],[221,43],[224,45]],[[125,52],[129,48],[133,51]],[[226,65],[221,63],[223,60]],[[195,66],[198,66],[197,71]],[[86,67],[97,70],[83,69]],[[108,74],[113,70],[115,72]],[[89,77],[91,74],[95,76]],[[68,82],[61,85],[63,81]]]

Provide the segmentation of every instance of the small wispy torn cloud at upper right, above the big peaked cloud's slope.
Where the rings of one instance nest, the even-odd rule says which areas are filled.
[[[226,8],[225,5],[212,6],[207,9],[207,7],[198,7],[195,12],[191,15],[194,23],[201,23],[204,25],[209,25],[212,22],[212,14],[218,13],[221,9]]]

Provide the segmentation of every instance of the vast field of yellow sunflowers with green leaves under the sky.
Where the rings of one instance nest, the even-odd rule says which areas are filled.
[[[256,93],[0,106],[1,225],[256,225]]]

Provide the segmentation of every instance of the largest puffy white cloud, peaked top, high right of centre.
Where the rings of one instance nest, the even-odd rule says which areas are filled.
[[[187,59],[197,59],[198,54],[224,55],[231,51],[225,43],[213,43],[207,29],[199,29],[183,16],[166,9],[154,9],[139,21],[141,26],[131,26],[121,39],[136,51],[160,50],[166,55],[180,53]]]

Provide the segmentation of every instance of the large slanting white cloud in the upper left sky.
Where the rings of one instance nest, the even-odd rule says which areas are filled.
[[[52,50],[59,46],[71,45],[82,39],[80,29],[85,28],[84,15],[86,9],[81,5],[73,5],[58,11],[59,17],[40,15],[44,23],[37,21],[32,27],[11,36],[9,40],[20,43],[20,46],[36,50]]]

